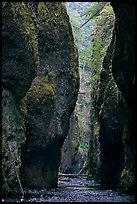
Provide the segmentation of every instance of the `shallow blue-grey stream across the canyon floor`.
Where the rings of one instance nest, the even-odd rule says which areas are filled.
[[[101,190],[94,180],[59,180],[57,189],[24,189],[24,197],[3,198],[2,202],[135,202],[134,196],[119,190]]]

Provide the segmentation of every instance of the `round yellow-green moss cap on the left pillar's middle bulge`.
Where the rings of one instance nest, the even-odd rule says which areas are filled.
[[[48,77],[38,76],[33,81],[27,95],[32,102],[45,103],[47,99],[55,98],[54,84],[48,80]]]

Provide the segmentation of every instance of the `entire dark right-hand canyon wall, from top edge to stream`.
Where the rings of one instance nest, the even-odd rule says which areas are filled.
[[[99,138],[91,140],[90,173],[93,178],[100,180],[102,188],[120,187],[124,192],[133,194],[135,193],[135,10],[134,5],[127,2],[113,2],[111,5],[116,21],[112,41],[100,72],[97,101]]]

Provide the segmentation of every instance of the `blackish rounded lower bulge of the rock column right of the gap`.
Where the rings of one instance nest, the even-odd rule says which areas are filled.
[[[124,164],[122,134],[124,132],[124,101],[113,79],[105,90],[100,111],[100,185],[102,188],[119,186]]]

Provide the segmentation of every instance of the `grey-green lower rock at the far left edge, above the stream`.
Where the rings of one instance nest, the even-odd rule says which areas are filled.
[[[18,176],[25,125],[12,92],[4,89],[2,97],[2,191],[15,194],[20,190]]]

